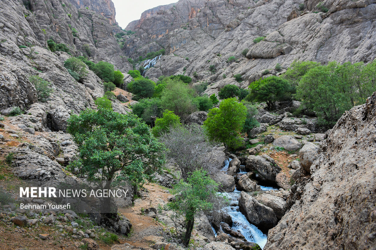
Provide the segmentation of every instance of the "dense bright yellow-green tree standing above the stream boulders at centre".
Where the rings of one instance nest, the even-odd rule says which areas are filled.
[[[204,122],[211,140],[218,139],[229,148],[237,149],[243,140],[239,133],[243,129],[247,116],[247,108],[235,98],[221,102],[219,108],[209,111],[208,119]]]

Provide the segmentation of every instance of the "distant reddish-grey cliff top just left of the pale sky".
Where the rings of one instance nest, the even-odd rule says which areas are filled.
[[[88,7],[90,10],[102,14],[109,20],[110,24],[116,23],[115,20],[115,6],[111,0],[70,0],[77,9]]]

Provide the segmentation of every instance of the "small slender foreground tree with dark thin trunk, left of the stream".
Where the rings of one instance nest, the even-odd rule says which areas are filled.
[[[184,244],[188,246],[194,226],[194,217],[200,211],[210,211],[214,208],[216,198],[223,197],[218,194],[218,184],[213,181],[206,170],[195,170],[186,182],[180,180],[172,190],[175,198],[167,207],[185,219],[186,232]]]

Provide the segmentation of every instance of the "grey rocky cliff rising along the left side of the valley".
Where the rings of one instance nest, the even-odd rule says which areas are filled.
[[[110,1],[111,2],[111,1]],[[92,1],[94,6],[95,1]],[[28,78],[39,75],[52,83],[53,93],[43,103],[48,114],[44,129],[65,130],[67,117],[86,107],[95,107],[94,99],[104,94],[102,81],[89,71],[77,83],[64,61],[70,55],[47,49],[47,40],[64,43],[73,56],[104,60],[126,73],[131,65],[120,50],[114,34],[120,27],[91,9],[77,9],[67,0],[16,0],[0,2],[0,110],[18,106],[23,110],[37,102],[36,89]],[[115,12],[114,12],[115,13]],[[114,107],[126,110],[120,102]]]

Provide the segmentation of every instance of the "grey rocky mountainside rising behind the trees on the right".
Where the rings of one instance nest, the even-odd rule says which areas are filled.
[[[146,75],[183,73],[211,83],[207,93],[225,84],[247,87],[277,63],[287,68],[293,60],[322,63],[369,62],[376,57],[375,1],[350,0],[180,0],[144,12],[127,29],[136,33],[123,50],[136,58],[165,48],[155,68]],[[304,4],[303,11],[299,5]],[[322,12],[320,6],[328,11]],[[317,13],[316,13],[317,12]],[[266,36],[264,41],[253,39]],[[241,52],[249,49],[247,58]],[[227,63],[230,56],[240,58]],[[188,60],[186,60],[188,57]],[[212,73],[209,66],[217,71]],[[277,72],[271,72],[276,74]],[[223,78],[223,74],[226,78]],[[237,83],[235,74],[243,75]]]

